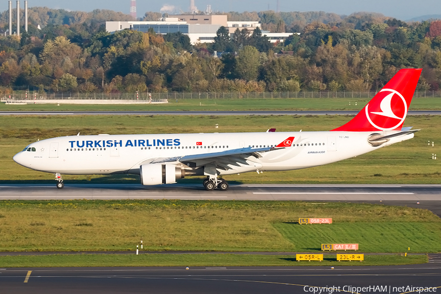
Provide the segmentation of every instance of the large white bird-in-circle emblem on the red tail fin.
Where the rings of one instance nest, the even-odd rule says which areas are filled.
[[[379,93],[387,94],[380,103],[369,103],[366,105],[366,117],[369,123],[379,130],[389,131],[401,125],[406,119],[407,103],[403,95],[392,89],[382,89]],[[393,107],[393,108],[392,108]],[[375,123],[374,123],[375,122]]]

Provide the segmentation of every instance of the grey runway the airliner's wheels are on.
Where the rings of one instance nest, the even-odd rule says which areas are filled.
[[[227,191],[205,191],[201,184],[0,184],[0,200],[182,199],[341,201],[429,209],[441,216],[441,185],[236,185]]]

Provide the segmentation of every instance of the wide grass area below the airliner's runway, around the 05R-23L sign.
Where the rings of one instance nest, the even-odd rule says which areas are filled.
[[[299,225],[330,217],[331,225]],[[441,252],[441,220],[427,210],[283,201],[0,201],[1,251],[145,250]]]

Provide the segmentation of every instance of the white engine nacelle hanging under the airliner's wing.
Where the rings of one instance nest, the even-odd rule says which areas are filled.
[[[176,183],[184,177],[184,172],[174,164],[143,164],[139,167],[141,184],[161,185]]]

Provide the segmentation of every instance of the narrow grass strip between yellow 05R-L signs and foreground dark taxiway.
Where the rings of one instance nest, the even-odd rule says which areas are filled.
[[[335,254],[323,261],[296,262],[295,255],[235,254],[84,254],[0,256],[0,267],[233,267],[233,266],[380,266],[427,263],[426,255],[365,255],[363,262],[337,262]],[[191,269],[191,268],[190,268]]]

